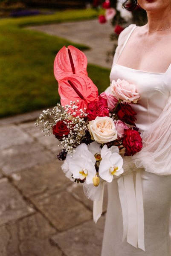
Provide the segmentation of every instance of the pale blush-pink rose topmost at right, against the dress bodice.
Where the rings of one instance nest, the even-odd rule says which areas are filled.
[[[124,102],[136,103],[139,99],[139,93],[136,93],[135,84],[129,84],[128,81],[118,79],[113,80],[111,84],[113,96]]]

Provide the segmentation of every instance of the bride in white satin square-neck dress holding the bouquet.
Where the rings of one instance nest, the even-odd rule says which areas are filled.
[[[137,4],[148,23],[119,35],[110,81],[136,84],[141,99],[133,109],[144,148],[125,157],[126,170],[133,172],[123,183],[120,177],[108,184],[101,256],[171,256],[171,0],[133,0],[130,8]]]

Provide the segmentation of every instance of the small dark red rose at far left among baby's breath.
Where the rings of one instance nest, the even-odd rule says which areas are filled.
[[[68,134],[70,134],[70,130],[67,128],[67,125],[64,124],[64,121],[57,122],[56,125],[52,127],[52,130],[53,134],[58,140],[62,140],[64,134],[65,136],[68,136]]]

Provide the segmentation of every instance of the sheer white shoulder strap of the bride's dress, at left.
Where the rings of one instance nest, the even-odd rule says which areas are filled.
[[[118,38],[118,46],[116,47],[115,55],[113,57],[113,64],[116,63],[116,61],[118,60],[122,50],[124,49],[128,39],[130,38],[130,35],[132,34],[135,28],[136,28],[135,24],[130,24],[126,29],[124,29],[120,33]]]

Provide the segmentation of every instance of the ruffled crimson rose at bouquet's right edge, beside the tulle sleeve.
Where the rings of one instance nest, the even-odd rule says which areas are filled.
[[[122,145],[126,149],[125,156],[133,156],[139,152],[142,148],[142,138],[140,137],[139,132],[132,128],[125,130]]]

